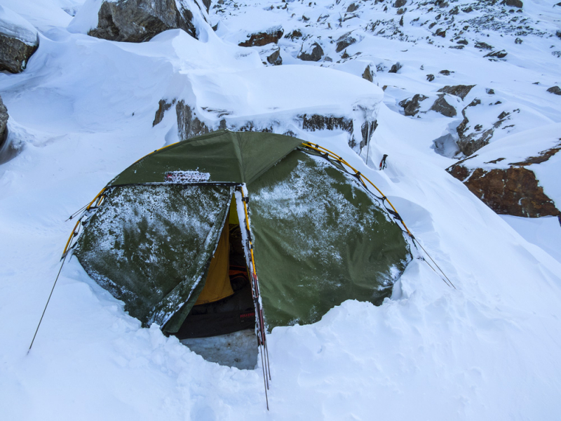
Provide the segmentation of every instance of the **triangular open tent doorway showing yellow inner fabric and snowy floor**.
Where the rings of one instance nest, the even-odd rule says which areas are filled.
[[[255,307],[244,249],[233,197],[204,288],[174,335],[208,361],[255,368]]]

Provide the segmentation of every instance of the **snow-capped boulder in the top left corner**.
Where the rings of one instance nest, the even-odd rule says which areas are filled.
[[[22,72],[38,46],[39,36],[33,25],[0,6],[0,71]]]

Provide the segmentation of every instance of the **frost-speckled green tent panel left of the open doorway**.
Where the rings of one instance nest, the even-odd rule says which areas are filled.
[[[163,325],[178,309],[180,324],[194,304],[189,298],[202,289],[198,281],[231,194],[231,188],[218,186],[118,187],[88,222],[75,254],[144,325]],[[166,329],[173,326],[172,320]]]

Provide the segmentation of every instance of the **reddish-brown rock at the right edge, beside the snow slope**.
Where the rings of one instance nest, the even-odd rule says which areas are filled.
[[[509,163],[509,168],[496,168],[490,171],[482,168],[468,168],[464,161],[447,168],[452,174],[478,196],[489,208],[501,215],[514,215],[529,218],[559,216],[561,212],[555,203],[543,192],[533,171],[526,168],[531,164],[547,161],[559,152],[561,146],[543,151],[539,156],[531,156],[525,161]],[[468,158],[469,159],[469,158]],[[494,159],[488,163],[503,161]]]

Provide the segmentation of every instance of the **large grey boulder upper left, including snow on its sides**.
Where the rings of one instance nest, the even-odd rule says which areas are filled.
[[[206,24],[199,0],[87,0],[69,25],[111,41],[143,42],[168,29],[183,29],[197,38]]]

